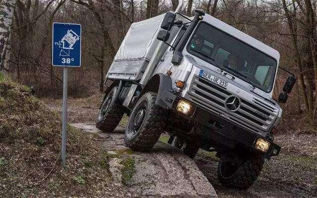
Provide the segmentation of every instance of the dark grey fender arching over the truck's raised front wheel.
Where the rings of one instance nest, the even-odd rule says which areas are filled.
[[[155,74],[143,88],[140,97],[147,92],[156,92],[157,99],[155,103],[164,109],[170,109],[176,98],[173,95],[171,78],[165,74]]]

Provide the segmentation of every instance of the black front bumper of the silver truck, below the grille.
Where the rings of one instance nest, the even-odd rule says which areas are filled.
[[[165,108],[171,109],[173,112],[186,118],[189,123],[200,123],[203,126],[203,137],[213,142],[216,146],[227,148],[237,148],[242,146],[252,152],[261,153],[268,157],[276,156],[280,152],[280,146],[274,144],[267,138],[244,129],[243,127],[226,120],[225,117],[221,117],[203,109],[187,99],[183,99],[167,91],[164,91],[161,97],[161,101],[164,101],[167,106],[165,106]],[[184,115],[176,110],[177,103],[180,99],[192,104],[193,110],[191,114]],[[262,152],[255,148],[255,143],[259,138],[270,143],[266,152]]]

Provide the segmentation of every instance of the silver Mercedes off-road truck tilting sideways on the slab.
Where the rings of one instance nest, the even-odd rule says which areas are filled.
[[[272,99],[279,53],[196,9],[133,23],[106,74],[96,126],[111,133],[129,116],[125,144],[153,148],[162,133],[190,157],[216,151],[218,178],[246,189],[280,147],[270,134],[295,83]]]

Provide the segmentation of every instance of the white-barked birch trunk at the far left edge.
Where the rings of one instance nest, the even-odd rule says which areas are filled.
[[[0,71],[8,72],[8,58],[10,57],[10,30],[16,0],[2,0],[0,14],[3,20],[0,21]]]

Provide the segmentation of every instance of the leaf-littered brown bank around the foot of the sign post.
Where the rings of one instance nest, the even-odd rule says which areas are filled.
[[[0,197],[102,192],[111,176],[98,163],[100,148],[89,135],[67,126],[66,166],[61,167],[60,131],[56,112],[31,96],[28,87],[0,73]]]

